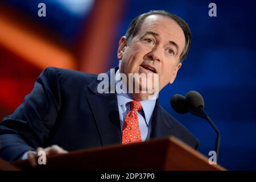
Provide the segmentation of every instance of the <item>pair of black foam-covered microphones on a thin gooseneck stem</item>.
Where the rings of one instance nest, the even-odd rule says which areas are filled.
[[[210,123],[210,126],[213,127],[214,131],[217,134],[216,142],[215,142],[215,151],[217,155],[218,161],[218,151],[220,148],[220,131],[214,125],[212,120],[209,118],[208,114],[204,110],[204,98],[200,93],[196,91],[189,91],[186,96],[181,96],[180,94],[175,94],[172,96],[171,100],[172,109],[174,109],[177,113],[185,114],[191,113],[198,117],[207,119]]]

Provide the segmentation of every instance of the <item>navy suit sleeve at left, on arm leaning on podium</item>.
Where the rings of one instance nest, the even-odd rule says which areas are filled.
[[[0,157],[12,162],[24,152],[43,146],[55,124],[61,106],[61,77],[55,68],[46,68],[32,92],[13,114],[0,123]]]

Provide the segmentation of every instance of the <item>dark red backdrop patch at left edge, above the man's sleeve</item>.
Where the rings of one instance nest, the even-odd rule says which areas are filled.
[[[31,92],[41,69],[0,48],[0,108],[1,115],[10,114]],[[0,118],[0,121],[2,118]]]

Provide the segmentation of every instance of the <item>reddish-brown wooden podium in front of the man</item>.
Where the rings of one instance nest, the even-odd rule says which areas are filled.
[[[13,164],[24,170],[225,170],[174,137],[49,156],[34,168],[27,160]]]

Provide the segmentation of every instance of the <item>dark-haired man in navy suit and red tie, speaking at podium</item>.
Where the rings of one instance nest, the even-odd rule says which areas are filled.
[[[148,74],[157,75],[158,90],[172,84],[190,44],[189,27],[178,16],[166,11],[139,15],[119,40],[115,85],[129,74],[145,74],[152,82],[156,80]],[[140,91],[148,91],[139,80],[133,79]],[[134,86],[129,83],[124,91]],[[99,84],[97,75],[47,68],[23,104],[3,119],[0,156],[10,162],[28,158],[35,166],[40,150],[62,154],[171,135],[199,147],[199,141],[159,105],[158,93],[99,93]]]

